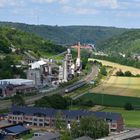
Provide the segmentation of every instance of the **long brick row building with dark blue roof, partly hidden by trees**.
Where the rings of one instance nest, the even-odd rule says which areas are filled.
[[[84,116],[96,116],[108,123],[109,131],[120,132],[124,129],[121,114],[87,110],[56,110],[52,108],[12,106],[8,114],[8,121],[14,124],[25,123],[31,126],[54,128],[58,113],[62,114],[63,120],[68,124],[72,121],[79,121]]]

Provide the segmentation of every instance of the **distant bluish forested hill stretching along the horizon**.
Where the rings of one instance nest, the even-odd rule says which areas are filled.
[[[57,44],[71,45],[80,41],[81,43],[95,43],[113,36],[120,35],[128,29],[100,26],[48,26],[28,25],[22,23],[0,22],[1,26],[11,26],[23,31],[35,33],[49,39]]]

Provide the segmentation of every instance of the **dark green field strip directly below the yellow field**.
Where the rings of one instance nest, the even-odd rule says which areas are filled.
[[[135,109],[140,109],[140,98],[136,97],[87,93],[80,98],[82,100],[92,100],[97,105],[112,107],[124,107],[126,103],[131,103]]]

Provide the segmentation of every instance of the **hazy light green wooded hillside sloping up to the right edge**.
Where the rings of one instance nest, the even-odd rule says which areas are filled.
[[[101,42],[98,47],[106,51],[140,53],[140,29],[133,29]]]

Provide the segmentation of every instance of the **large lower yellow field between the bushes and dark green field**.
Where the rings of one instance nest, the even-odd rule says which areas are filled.
[[[90,92],[140,97],[140,78],[110,76]]]

